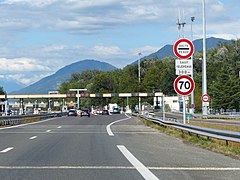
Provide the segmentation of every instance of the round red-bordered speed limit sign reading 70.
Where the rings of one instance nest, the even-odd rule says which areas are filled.
[[[194,90],[195,83],[190,76],[182,75],[182,76],[178,76],[175,79],[173,86],[176,93],[182,96],[187,96],[191,94],[192,91]]]

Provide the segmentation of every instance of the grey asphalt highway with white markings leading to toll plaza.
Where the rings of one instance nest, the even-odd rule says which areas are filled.
[[[1,180],[239,179],[240,161],[125,115],[0,129]]]

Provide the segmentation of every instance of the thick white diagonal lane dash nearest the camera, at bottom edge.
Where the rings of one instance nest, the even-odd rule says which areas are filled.
[[[158,180],[158,178],[148,169],[146,168],[133,154],[127,150],[127,148],[123,145],[117,145],[118,149],[121,153],[127,158],[127,160],[138,170],[138,172],[143,176],[146,180]]]

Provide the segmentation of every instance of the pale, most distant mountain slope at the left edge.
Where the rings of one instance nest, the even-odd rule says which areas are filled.
[[[7,93],[11,93],[12,91],[17,91],[26,87],[24,84],[16,81],[15,79],[1,77],[0,78],[0,86],[4,88]]]

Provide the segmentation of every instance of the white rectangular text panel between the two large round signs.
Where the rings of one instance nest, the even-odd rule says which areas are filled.
[[[187,59],[175,60],[176,75],[191,75],[192,74],[192,62]]]

